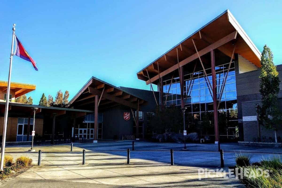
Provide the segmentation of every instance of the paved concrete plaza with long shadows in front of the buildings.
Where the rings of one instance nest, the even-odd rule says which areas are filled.
[[[187,148],[194,150],[209,146],[210,150],[217,149],[209,144],[199,147],[187,144]],[[228,146],[231,150],[230,144],[222,144],[226,150]],[[130,164],[126,164],[127,148],[132,149],[132,141],[74,143],[73,152],[70,152],[70,145],[36,146],[36,152],[26,152],[30,147],[7,147],[7,155],[14,158],[28,156],[33,159],[34,166],[0,187],[23,187],[25,182],[34,182],[29,183],[31,187],[46,183],[50,187],[244,187],[239,180],[226,178],[228,166],[235,165],[235,155],[240,151],[224,152],[225,173],[217,173],[213,178],[202,174],[199,180],[198,169],[221,169],[219,152],[182,151],[183,144],[135,141],[135,151],[130,152]],[[39,149],[42,150],[41,166],[37,166]],[[86,150],[85,165],[82,165],[83,149]],[[170,165],[170,149],[175,150],[173,166]],[[259,148],[243,149],[245,153],[242,154],[252,156],[252,162],[279,156],[252,152]]]

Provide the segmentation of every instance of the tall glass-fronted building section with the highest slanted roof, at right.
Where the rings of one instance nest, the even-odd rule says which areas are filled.
[[[186,107],[186,116],[192,119],[187,125],[197,121],[202,127],[207,116],[212,120],[211,127],[191,131],[211,136],[215,142],[219,138],[253,141],[258,136],[255,103],[261,100],[260,58],[257,47],[226,10],[140,70],[137,77],[158,86],[161,107]],[[223,123],[222,116],[226,117]],[[264,135],[274,137],[274,131],[261,130]]]

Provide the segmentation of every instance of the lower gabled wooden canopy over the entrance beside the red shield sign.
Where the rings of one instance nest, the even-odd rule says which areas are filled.
[[[95,99],[98,97],[97,99]],[[95,101],[99,110],[118,105],[125,105],[133,109],[144,106],[147,101],[125,92],[105,81],[92,77],[83,88],[70,100],[70,106],[76,109],[93,109]]]

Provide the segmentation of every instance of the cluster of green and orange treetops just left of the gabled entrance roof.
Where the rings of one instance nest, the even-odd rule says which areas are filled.
[[[43,93],[39,101],[39,105],[49,106],[49,107],[68,107],[69,106],[69,92],[65,91],[65,94],[63,94],[62,90],[59,90],[55,97],[55,101],[52,95],[49,95],[47,99],[45,94]]]

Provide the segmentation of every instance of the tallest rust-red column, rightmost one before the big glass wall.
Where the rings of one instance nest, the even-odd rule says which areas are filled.
[[[215,75],[215,59],[214,59],[214,51],[213,50],[211,50],[211,75],[212,75],[215,142],[218,142],[219,141],[219,133],[218,133],[218,116],[217,116],[216,75]]]

